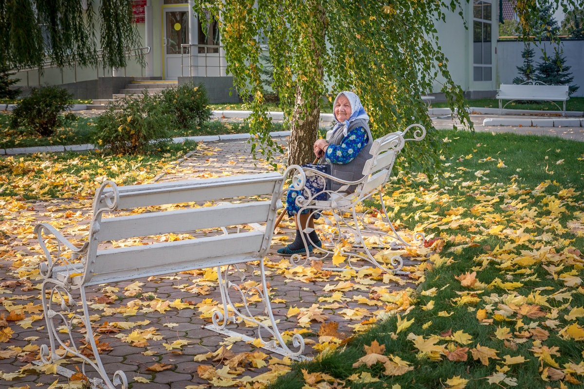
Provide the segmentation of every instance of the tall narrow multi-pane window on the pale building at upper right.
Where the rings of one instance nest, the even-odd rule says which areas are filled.
[[[493,79],[493,62],[491,55],[491,2],[473,1],[472,15],[472,70],[475,81]]]

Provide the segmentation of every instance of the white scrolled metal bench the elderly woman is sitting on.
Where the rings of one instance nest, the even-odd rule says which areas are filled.
[[[406,132],[412,128],[413,138],[406,139]],[[411,237],[411,242],[405,241],[404,238],[398,234],[388,216],[383,194],[384,185],[391,177],[391,170],[394,166],[395,158],[400,150],[404,148],[405,142],[421,141],[425,136],[426,129],[422,125],[412,124],[404,129],[404,131],[392,132],[391,134],[384,135],[383,137],[374,140],[370,151],[371,158],[365,163],[365,166],[363,167],[364,176],[359,181],[343,181],[339,178],[322,173],[321,171],[304,167],[303,170],[307,177],[311,175],[325,177],[331,181],[336,181],[336,183],[342,184],[342,186],[338,191],[325,191],[328,194],[328,200],[326,201],[319,201],[315,199],[316,196],[304,198],[299,195],[296,198],[296,204],[301,206],[301,209],[298,212],[302,212],[304,209],[310,209],[312,215],[315,212],[322,213],[328,211],[328,213],[332,213],[334,221],[331,221],[330,218],[325,215],[325,223],[328,223],[328,226],[315,225],[315,229],[320,230],[321,236],[326,237],[326,242],[331,242],[329,246],[324,244],[322,249],[317,249],[315,251],[315,253],[317,253],[317,251],[324,252],[324,256],[307,256],[303,259],[300,255],[296,254],[291,257],[293,264],[303,265],[308,263],[307,261],[309,260],[324,260],[327,257],[332,258],[335,254],[339,254],[338,250],[343,245],[343,240],[347,241],[347,239],[349,239],[353,241],[353,248],[359,249],[359,251],[343,252],[342,255],[346,256],[346,261],[343,261],[342,264],[340,264],[342,267],[349,265],[350,268],[359,270],[360,267],[356,267],[353,262],[363,260],[383,271],[403,273],[401,268],[403,267],[404,262],[401,257],[398,255],[393,256],[390,260],[391,268],[385,267],[385,265],[380,264],[376,258],[374,258],[374,255],[368,247],[368,245],[371,246],[371,244],[366,242],[366,239],[374,237],[374,239],[381,244],[381,246],[378,246],[381,248],[404,248],[409,246],[420,246],[423,244],[425,239],[423,233],[415,233]],[[347,192],[349,186],[353,187],[353,185],[356,185],[355,190],[353,192]],[[369,209],[364,213],[357,211],[357,209],[363,206],[364,200],[373,199],[373,195],[376,193],[379,194],[381,211],[377,211],[376,209]],[[349,212],[350,216],[347,216],[346,213]],[[381,219],[383,220],[383,223],[385,223],[385,231],[370,228],[366,220],[364,220],[369,216],[372,216],[371,214],[373,212],[381,213]],[[310,229],[305,229],[304,232],[310,232]],[[309,243],[311,242],[304,241],[307,249]],[[335,253],[335,250],[337,253]],[[339,269],[339,267],[325,269]]]

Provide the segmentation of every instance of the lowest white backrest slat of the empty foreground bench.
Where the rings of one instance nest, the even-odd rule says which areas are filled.
[[[151,275],[170,274],[249,260],[258,254],[263,232],[204,237],[165,243],[98,250],[88,264],[93,273],[85,285],[98,285]],[[167,261],[165,258],[172,258]],[[257,257],[256,257],[257,258]]]

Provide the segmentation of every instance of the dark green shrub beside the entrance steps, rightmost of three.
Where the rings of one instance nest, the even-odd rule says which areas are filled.
[[[213,113],[203,84],[186,83],[162,92],[165,110],[171,115],[175,127],[190,129],[201,126]]]

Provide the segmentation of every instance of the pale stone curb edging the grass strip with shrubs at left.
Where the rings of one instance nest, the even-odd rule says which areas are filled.
[[[185,141],[195,142],[217,142],[217,141],[242,141],[249,139],[249,134],[226,134],[226,135],[205,135],[205,136],[180,136],[179,138],[172,138],[173,143],[182,143]],[[270,132],[272,138],[283,138],[290,136],[290,131],[274,131]],[[85,145],[67,145],[67,146],[35,146],[35,147],[20,147],[11,149],[0,149],[0,155],[17,155],[17,154],[34,154],[34,153],[53,153],[64,151],[87,151],[93,150],[95,146],[90,144]]]

